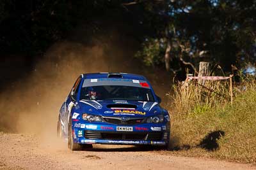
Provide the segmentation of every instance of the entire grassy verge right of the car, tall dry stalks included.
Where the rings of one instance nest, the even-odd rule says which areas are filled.
[[[175,108],[170,111],[173,138],[179,139],[176,153],[256,163],[256,81],[253,76],[240,80],[234,84],[233,104],[226,82],[206,84],[214,92],[195,81],[174,87]]]

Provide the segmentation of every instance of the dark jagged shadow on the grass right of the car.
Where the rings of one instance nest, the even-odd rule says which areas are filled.
[[[217,141],[222,136],[225,136],[224,131],[211,132],[211,133],[207,134],[207,136],[205,136],[205,138],[200,142],[200,144],[198,146],[200,146],[201,148],[204,148],[205,150],[208,150],[208,151],[218,150],[219,145],[218,145]]]

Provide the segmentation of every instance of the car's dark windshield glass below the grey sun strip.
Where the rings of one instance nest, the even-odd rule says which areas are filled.
[[[99,85],[82,87],[80,99],[154,101],[152,90],[124,85]]]

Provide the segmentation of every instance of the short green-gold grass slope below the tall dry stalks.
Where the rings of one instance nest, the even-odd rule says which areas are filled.
[[[256,163],[256,85],[247,87],[232,105],[197,103],[170,110],[174,153]]]

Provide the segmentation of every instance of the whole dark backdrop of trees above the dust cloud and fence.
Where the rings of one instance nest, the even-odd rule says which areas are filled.
[[[255,0],[0,0],[0,50],[43,53],[77,24],[97,31],[105,22],[131,26],[121,31],[130,29],[148,66],[177,72],[209,60],[230,69],[255,60],[255,18]]]

